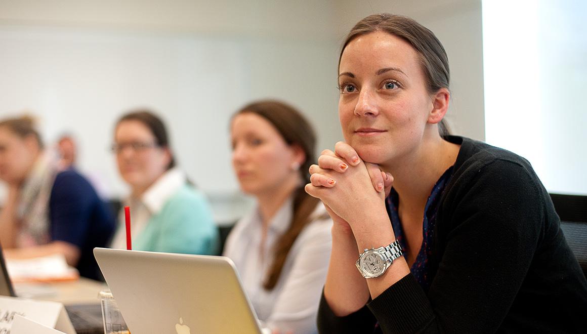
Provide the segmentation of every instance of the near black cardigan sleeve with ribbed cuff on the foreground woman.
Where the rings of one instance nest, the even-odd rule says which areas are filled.
[[[514,302],[544,228],[541,187],[517,161],[473,167],[438,212],[428,294],[407,275],[369,303],[384,333],[495,332]]]

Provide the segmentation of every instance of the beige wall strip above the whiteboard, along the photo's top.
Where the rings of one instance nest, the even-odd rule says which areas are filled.
[[[2,25],[330,39],[336,0],[0,0]]]

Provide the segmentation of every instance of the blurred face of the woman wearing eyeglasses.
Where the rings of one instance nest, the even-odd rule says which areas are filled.
[[[169,150],[156,143],[149,127],[137,120],[124,120],[116,126],[114,145],[118,169],[134,191],[149,188],[170,163]]]

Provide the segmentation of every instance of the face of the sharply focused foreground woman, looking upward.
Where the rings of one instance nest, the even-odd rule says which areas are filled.
[[[393,164],[417,153],[433,99],[416,50],[394,35],[372,32],[346,46],[339,73],[340,124],[359,156]]]

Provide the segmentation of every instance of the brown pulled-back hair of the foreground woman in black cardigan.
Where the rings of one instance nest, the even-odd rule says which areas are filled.
[[[436,93],[441,88],[448,89],[450,70],[448,68],[448,56],[443,45],[430,29],[407,16],[382,13],[369,15],[362,19],[346,35],[345,42],[340,50],[340,58],[342,58],[342,53],[345,51],[346,46],[353,39],[376,31],[389,33],[410,43],[419,55],[420,65],[424,76],[426,76],[426,89],[430,94]],[[339,68],[340,58],[338,62]],[[438,123],[438,132],[443,137],[450,134],[444,119]]]

